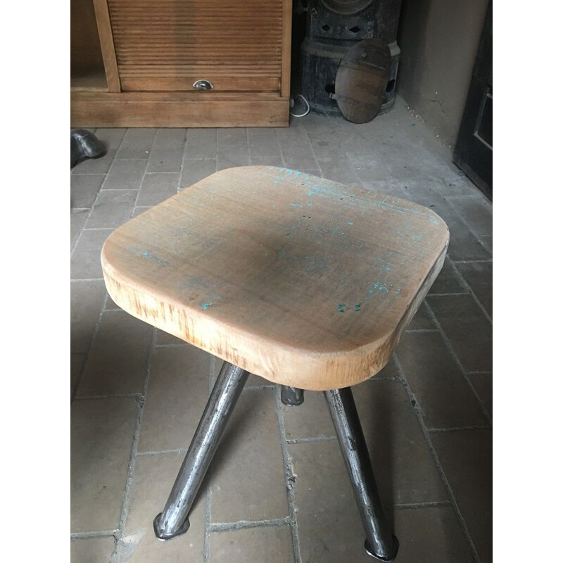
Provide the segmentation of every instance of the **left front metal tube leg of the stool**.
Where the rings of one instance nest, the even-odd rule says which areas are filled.
[[[248,372],[224,362],[164,510],[153,521],[158,539],[170,540],[188,531],[191,505],[246,379]]]

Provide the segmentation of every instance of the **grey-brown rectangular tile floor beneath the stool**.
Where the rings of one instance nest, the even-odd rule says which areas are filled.
[[[93,129],[94,130],[94,129]],[[398,99],[366,125],[95,129],[71,173],[72,562],[368,562],[320,393],[251,377],[190,514],[163,508],[220,360],[116,308],[99,261],[142,210],[225,167],[279,165],[417,201],[451,231],[443,272],[383,372],[354,388],[400,562],[492,561],[492,205]]]

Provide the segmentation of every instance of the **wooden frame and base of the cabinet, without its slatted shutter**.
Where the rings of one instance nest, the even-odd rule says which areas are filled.
[[[71,87],[71,127],[286,127],[291,0],[281,3],[281,69],[272,91],[122,91],[108,0],[92,0],[107,87]],[[229,3],[226,1],[225,6]],[[249,8],[251,9],[251,8]],[[270,82],[272,83],[272,82]]]

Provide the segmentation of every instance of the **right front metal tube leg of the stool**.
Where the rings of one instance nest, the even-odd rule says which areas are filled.
[[[379,561],[393,561],[397,557],[399,542],[391,534],[383,512],[352,390],[350,387],[331,389],[324,391],[324,398],[329,405],[336,436],[339,439],[367,534],[365,550],[368,555]]]

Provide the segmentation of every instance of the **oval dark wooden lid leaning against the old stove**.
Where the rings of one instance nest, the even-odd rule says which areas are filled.
[[[342,115],[354,123],[371,121],[383,103],[390,72],[391,53],[382,39],[365,39],[350,47],[334,82]]]

